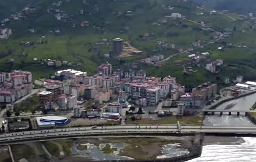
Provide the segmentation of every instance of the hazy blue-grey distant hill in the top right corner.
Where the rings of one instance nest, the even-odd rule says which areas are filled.
[[[230,12],[247,14],[248,12],[256,15],[255,0],[192,0],[200,6],[214,8],[217,10],[229,10]]]

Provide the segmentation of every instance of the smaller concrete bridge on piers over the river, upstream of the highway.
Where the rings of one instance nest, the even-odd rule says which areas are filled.
[[[247,116],[247,113],[249,112],[256,112],[256,111],[250,111],[250,110],[216,110],[216,109],[205,109],[204,115],[223,115],[223,113],[227,113],[228,115],[232,115],[232,113],[236,113],[237,116],[240,115],[240,113],[245,113],[245,116]]]

